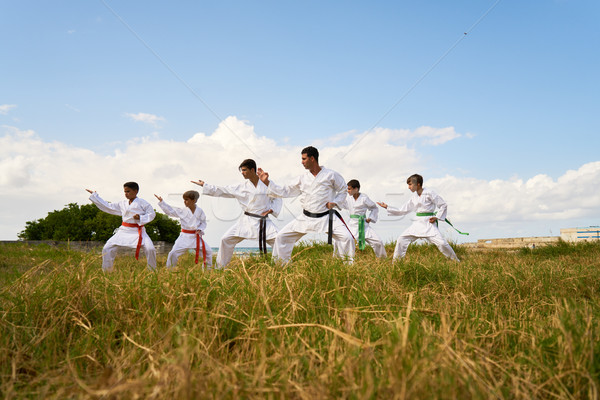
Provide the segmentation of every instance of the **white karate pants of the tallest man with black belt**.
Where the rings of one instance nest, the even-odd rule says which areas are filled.
[[[323,217],[327,218],[327,217]],[[292,250],[294,244],[306,235],[307,232],[296,232],[291,228],[294,221],[283,227],[275,238],[273,246],[273,259],[287,263],[292,258]],[[339,220],[335,219],[333,223],[333,255],[346,259],[352,263],[354,261],[355,243],[352,234],[346,226]]]

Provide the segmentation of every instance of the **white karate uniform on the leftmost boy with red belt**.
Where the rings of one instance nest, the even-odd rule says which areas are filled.
[[[139,197],[133,199],[131,204],[129,204],[129,200],[127,199],[117,203],[109,203],[103,200],[98,193],[94,192],[90,196],[90,200],[98,206],[100,210],[109,214],[120,215],[123,218],[123,222],[129,224],[146,225],[156,216],[154,208],[152,208],[150,203]],[[136,214],[140,216],[139,220],[133,219],[133,216]],[[102,269],[107,272],[112,271],[119,248],[129,247],[135,249],[137,248],[138,240],[138,228],[129,228],[121,225],[102,248]],[[144,227],[142,227],[141,248],[144,249],[144,253],[146,254],[148,268],[152,270],[156,269],[156,249]]]

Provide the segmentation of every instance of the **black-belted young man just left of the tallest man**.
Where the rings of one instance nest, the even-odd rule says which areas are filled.
[[[238,167],[244,183],[230,186],[215,186],[204,181],[192,181],[202,186],[203,194],[214,197],[234,198],[240,204],[244,214],[223,234],[217,253],[217,264],[224,268],[231,261],[236,244],[244,239],[258,240],[261,252],[267,252],[267,243],[273,247],[277,236],[277,227],[268,218],[279,215],[283,204],[281,199],[269,196],[267,186],[256,175],[256,162],[251,159],[242,161]]]

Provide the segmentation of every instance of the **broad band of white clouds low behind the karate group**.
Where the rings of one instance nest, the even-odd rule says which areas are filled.
[[[443,145],[457,135],[453,128],[352,132],[346,144],[323,141],[319,161],[346,180],[361,181],[362,191],[373,200],[401,205],[410,195],[406,177],[425,170],[419,147],[407,139]],[[185,142],[140,138],[110,155],[44,141],[33,131],[4,126],[0,130],[0,239],[15,239],[26,221],[43,218],[68,203],[89,203],[86,188],[117,201],[123,197],[123,182],[134,180],[140,184],[141,197],[153,202],[156,193],[181,205],[181,193],[201,191],[190,180],[219,185],[240,182],[238,165],[246,158],[255,159],[273,181],[291,182],[304,172],[302,147],[260,136],[248,121],[236,117],[228,117],[210,134],[196,133]],[[558,235],[558,228],[582,225],[600,212],[600,193],[595,190],[598,181],[600,161],[565,171],[557,179],[543,174],[489,181],[426,176],[425,186],[446,199],[453,223],[471,232],[467,238],[452,237],[444,227],[447,235],[474,241],[543,236],[550,231]],[[280,227],[300,211],[297,200],[284,203],[285,212],[276,220]],[[220,236],[239,216],[239,207],[234,200],[209,197],[202,197],[200,205],[209,219],[207,239],[218,246]],[[391,240],[409,223],[410,218],[388,217],[382,210],[376,229],[382,238]]]

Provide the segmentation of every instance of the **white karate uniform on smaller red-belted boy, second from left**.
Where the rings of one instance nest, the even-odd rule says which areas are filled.
[[[202,237],[202,235],[204,235],[204,230],[206,229],[206,214],[204,214],[204,211],[200,207],[196,206],[196,210],[192,212],[188,207],[172,207],[165,201],[161,201],[158,205],[165,214],[179,219],[181,229],[185,229],[186,231],[201,231],[200,236]],[[203,247],[206,251],[206,267],[210,268],[212,266],[212,248],[206,243],[204,238],[200,240],[198,262],[202,262]],[[190,249],[193,249],[194,252],[196,251],[196,234],[181,232],[177,240],[175,240],[173,248],[167,255],[167,268],[175,267],[177,265],[177,259]]]

